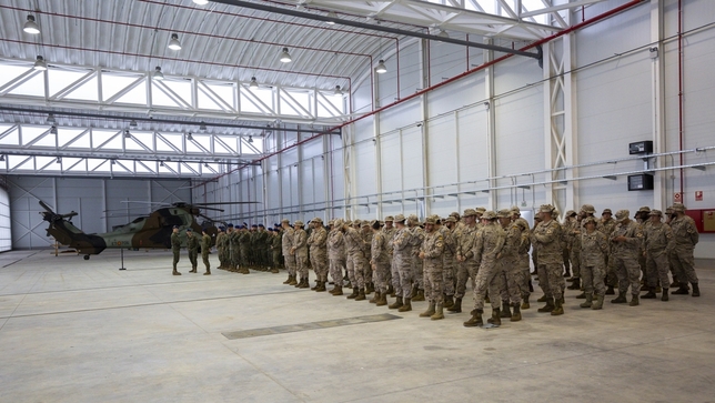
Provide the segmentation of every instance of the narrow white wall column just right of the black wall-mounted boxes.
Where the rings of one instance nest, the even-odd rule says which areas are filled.
[[[651,0],[651,43],[657,43],[651,48],[651,98],[652,98],[652,119],[653,119],[653,152],[666,152],[665,141],[665,49],[663,40],[663,2]],[[657,161],[651,161],[661,167],[665,167],[667,160],[662,157]],[[664,211],[668,205],[667,177],[673,171],[658,171],[653,178],[653,208]],[[671,190],[675,191],[675,190]]]

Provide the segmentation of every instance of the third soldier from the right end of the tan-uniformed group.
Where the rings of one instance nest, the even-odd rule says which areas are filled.
[[[626,303],[626,292],[631,286],[633,295],[630,305],[638,305],[638,293],[641,292],[641,266],[638,254],[643,248],[643,232],[638,225],[631,221],[628,210],[616,212],[616,228],[611,234],[610,241],[613,248],[613,260],[618,275],[618,296],[612,303]]]

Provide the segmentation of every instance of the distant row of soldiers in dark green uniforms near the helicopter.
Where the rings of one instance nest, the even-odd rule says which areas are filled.
[[[249,274],[249,269],[279,272],[282,264],[282,236],[278,229],[263,224],[220,226],[215,245],[219,269]]]

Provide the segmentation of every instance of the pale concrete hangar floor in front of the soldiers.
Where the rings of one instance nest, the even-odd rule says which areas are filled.
[[[484,330],[462,326],[471,301],[430,321],[425,302],[401,314],[283,285],[283,271],[189,274],[184,256],[172,276],[168,252],[124,258],[127,271],[118,251],[0,254],[0,402],[715,401],[715,270],[702,262],[698,299],[592,311],[568,291],[563,316],[532,304]],[[386,313],[401,319],[353,320]]]

